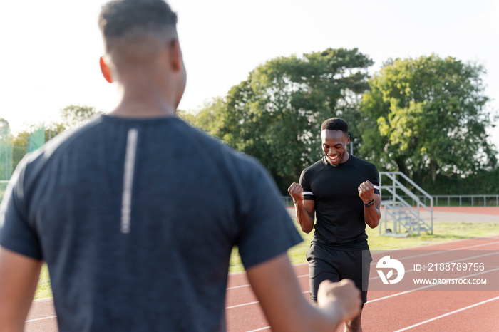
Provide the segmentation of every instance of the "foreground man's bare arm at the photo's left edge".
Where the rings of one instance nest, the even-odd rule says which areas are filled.
[[[42,261],[0,247],[0,331],[24,331]]]

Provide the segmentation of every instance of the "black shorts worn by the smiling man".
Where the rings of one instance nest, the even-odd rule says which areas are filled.
[[[310,299],[317,303],[317,290],[319,284],[324,280],[340,281],[341,279],[351,279],[361,291],[362,306],[364,307],[367,301],[367,285],[369,284],[369,270],[372,259],[371,254],[369,254],[369,259],[364,259],[363,263],[363,252],[369,254],[369,251],[366,250],[343,251],[323,247],[320,244],[311,244],[307,252]],[[362,289],[365,289],[365,291]]]

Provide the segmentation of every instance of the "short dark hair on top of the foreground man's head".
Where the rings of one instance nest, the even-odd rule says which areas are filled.
[[[163,0],[113,0],[102,7],[98,19],[105,41],[131,31],[152,32],[177,24],[177,14]]]

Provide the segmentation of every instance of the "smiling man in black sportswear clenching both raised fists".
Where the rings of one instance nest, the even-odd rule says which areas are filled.
[[[362,261],[362,252],[369,250],[366,224],[374,228],[381,217],[378,170],[346,151],[348,124],[340,118],[324,121],[321,141],[325,156],[288,189],[304,232],[314,229],[317,218],[307,253],[314,303],[321,281],[352,279],[359,289],[367,284],[369,261]],[[362,292],[362,301],[366,303],[367,291]],[[345,331],[362,331],[361,314],[345,322]]]

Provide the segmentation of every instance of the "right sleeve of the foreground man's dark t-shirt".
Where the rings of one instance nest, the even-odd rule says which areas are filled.
[[[245,177],[242,220],[237,247],[246,269],[286,252],[303,241],[292,222],[276,185],[263,167]],[[244,183],[243,182],[243,183]]]

